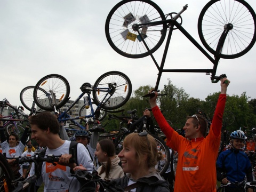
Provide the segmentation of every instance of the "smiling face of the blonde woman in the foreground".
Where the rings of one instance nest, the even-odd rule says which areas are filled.
[[[134,147],[126,146],[118,154],[118,157],[121,158],[123,171],[125,173],[134,174],[140,171],[140,166],[138,164],[138,158],[136,157],[136,151]]]

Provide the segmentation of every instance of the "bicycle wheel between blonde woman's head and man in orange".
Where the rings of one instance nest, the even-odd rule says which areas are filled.
[[[156,143],[157,143],[158,151],[161,151],[163,156],[164,156],[164,159],[158,161],[156,166],[155,166],[156,171],[160,175],[163,175],[166,172],[166,170],[168,169],[169,165],[170,165],[170,160],[171,160],[170,150],[169,150],[169,147],[166,146],[166,144],[163,141],[163,139],[157,137],[154,134],[150,134],[150,135],[152,137],[154,137],[154,139],[156,140]]]

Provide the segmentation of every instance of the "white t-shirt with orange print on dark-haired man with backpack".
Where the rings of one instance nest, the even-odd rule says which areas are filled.
[[[62,146],[57,149],[46,149],[45,155],[63,155],[69,154],[70,141],[65,141]],[[93,162],[88,150],[78,143],[77,145],[77,163],[82,164],[87,170],[93,170]],[[31,174],[32,175],[32,174]],[[78,191],[81,188],[79,181],[71,176],[70,167],[59,165],[54,166],[52,163],[44,162],[42,166],[42,177],[38,180],[37,186],[44,182],[44,191]],[[71,182],[71,185],[70,185]],[[38,185],[39,184],[39,185]],[[70,188],[69,188],[70,185]]]

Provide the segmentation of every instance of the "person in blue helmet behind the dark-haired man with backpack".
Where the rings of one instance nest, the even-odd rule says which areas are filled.
[[[98,168],[98,161],[95,159],[95,150],[99,140],[99,132],[92,132],[92,137],[85,130],[79,130],[75,133],[76,142],[82,143],[85,148],[89,151],[90,157],[95,167]]]

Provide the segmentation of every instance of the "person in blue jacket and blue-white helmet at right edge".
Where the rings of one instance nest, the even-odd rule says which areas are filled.
[[[243,186],[234,183],[244,181],[245,175],[247,182],[253,181],[251,162],[241,150],[246,137],[243,131],[237,130],[231,133],[230,138],[231,148],[223,151],[216,162],[217,180],[223,185],[231,182],[230,186],[225,187],[226,192],[243,191]],[[253,189],[247,191],[252,192]]]

